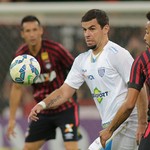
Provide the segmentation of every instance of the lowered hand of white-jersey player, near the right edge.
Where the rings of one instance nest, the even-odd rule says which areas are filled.
[[[144,135],[146,128],[147,128],[147,124],[146,123],[145,124],[138,124],[138,128],[137,128],[137,131],[136,131],[136,142],[137,142],[137,145],[140,144],[141,138]]]

